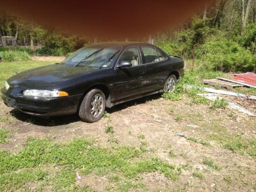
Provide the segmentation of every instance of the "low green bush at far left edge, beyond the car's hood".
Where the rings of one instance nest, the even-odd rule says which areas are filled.
[[[30,59],[30,55],[21,51],[0,51],[0,55],[3,56],[3,61],[27,61]]]

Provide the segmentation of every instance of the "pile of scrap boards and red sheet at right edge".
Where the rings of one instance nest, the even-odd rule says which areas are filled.
[[[216,100],[217,98],[224,97],[226,100],[229,101],[228,104],[230,108],[256,117],[256,96],[219,90],[220,88],[232,90],[237,87],[256,88],[256,74],[236,74],[234,75],[233,79],[217,77],[216,79],[204,79],[202,80],[202,82],[204,84],[214,86],[218,89],[204,88],[203,91],[209,93],[198,94],[199,96],[203,96],[210,100]]]

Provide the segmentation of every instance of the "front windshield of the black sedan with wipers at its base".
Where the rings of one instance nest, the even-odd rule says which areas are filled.
[[[120,47],[82,48],[61,63],[74,67],[109,68]]]

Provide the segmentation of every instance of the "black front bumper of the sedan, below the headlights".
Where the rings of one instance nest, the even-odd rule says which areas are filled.
[[[8,90],[2,88],[1,93],[7,106],[29,115],[41,117],[74,114],[77,112],[82,97],[80,94],[59,98],[33,99],[20,96],[18,88],[9,88]],[[10,100],[12,101],[11,104]]]

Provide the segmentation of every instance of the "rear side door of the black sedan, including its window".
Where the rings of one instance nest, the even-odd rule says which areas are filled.
[[[157,91],[164,87],[172,65],[165,53],[155,46],[140,46],[143,65],[146,66],[147,91]]]

